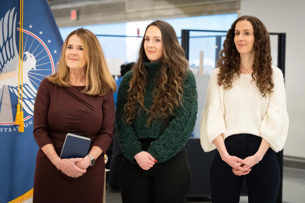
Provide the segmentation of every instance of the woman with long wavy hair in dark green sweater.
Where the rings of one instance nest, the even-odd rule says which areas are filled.
[[[123,203],[185,202],[191,187],[185,144],[195,126],[197,97],[174,28],[152,22],[117,96]]]

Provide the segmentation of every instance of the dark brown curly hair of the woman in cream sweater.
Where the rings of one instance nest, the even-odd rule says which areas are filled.
[[[273,92],[274,84],[272,82],[272,57],[269,33],[264,24],[254,16],[241,16],[235,20],[228,30],[227,37],[224,40],[224,48],[220,52],[220,59],[217,67],[220,69],[218,74],[218,85],[223,85],[223,89],[232,88],[232,79],[237,74],[240,77],[240,54],[234,43],[235,26],[237,22],[247,20],[252,23],[254,30],[254,63],[252,81],[256,82],[262,96]]]

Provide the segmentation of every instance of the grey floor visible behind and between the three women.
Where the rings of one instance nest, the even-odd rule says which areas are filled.
[[[283,172],[283,203],[304,203],[305,202],[305,170],[296,170],[292,168],[284,168]],[[211,203],[211,200],[197,199],[188,202]],[[25,201],[32,203],[32,198]],[[120,193],[106,194],[106,203],[122,203]],[[248,203],[248,198],[243,196],[239,203]]]

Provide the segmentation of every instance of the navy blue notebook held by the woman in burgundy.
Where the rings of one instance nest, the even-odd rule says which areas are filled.
[[[90,143],[91,138],[68,132],[63,143],[60,158],[84,158],[88,154]]]

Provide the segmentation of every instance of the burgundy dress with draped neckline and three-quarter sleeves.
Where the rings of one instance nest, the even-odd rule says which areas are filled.
[[[84,86],[58,87],[43,79],[34,105],[34,138],[39,146],[34,177],[33,203],[100,203],[102,202],[105,162],[104,153],[112,140],[114,101],[112,92],[104,96],[81,93]],[[91,146],[103,153],[94,166],[77,178],[57,170],[41,147],[53,144],[61,153],[67,132],[91,138]],[[90,151],[90,150],[89,150]]]

